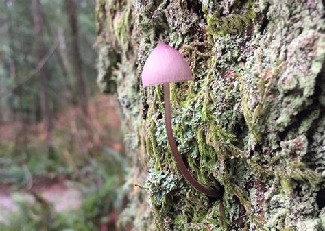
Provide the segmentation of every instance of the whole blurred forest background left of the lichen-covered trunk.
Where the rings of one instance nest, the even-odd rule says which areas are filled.
[[[95,81],[94,8],[1,1],[0,230],[115,230],[128,161]]]

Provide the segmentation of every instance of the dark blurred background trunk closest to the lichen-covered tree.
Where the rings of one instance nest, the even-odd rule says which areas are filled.
[[[84,77],[82,76],[82,59],[80,56],[78,38],[77,4],[75,0],[67,0],[65,1],[65,3],[72,36],[71,46],[73,55],[73,67],[75,69],[75,75],[77,77],[77,95],[80,97],[80,106],[82,107],[82,112],[84,116],[88,116],[88,94],[86,90],[86,85],[84,83]]]

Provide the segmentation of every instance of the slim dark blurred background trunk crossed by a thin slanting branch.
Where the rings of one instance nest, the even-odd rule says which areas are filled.
[[[42,60],[45,57],[45,45],[43,41],[43,17],[42,17],[42,6],[40,0],[33,0],[33,18],[34,18],[34,33],[37,45],[37,56],[38,60]],[[47,73],[46,69],[40,69],[40,108],[42,111],[44,130],[46,136],[47,147],[52,146],[52,122],[51,114],[49,112],[49,101],[47,98]]]

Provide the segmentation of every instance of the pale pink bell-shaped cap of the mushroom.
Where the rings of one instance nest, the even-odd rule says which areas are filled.
[[[141,77],[145,87],[192,80],[192,72],[178,50],[160,43],[145,61]]]

